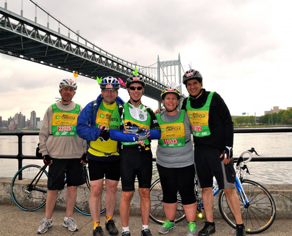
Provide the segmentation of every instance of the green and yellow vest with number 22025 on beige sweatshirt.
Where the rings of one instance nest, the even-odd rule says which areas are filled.
[[[76,104],[74,110],[63,111],[52,105],[52,134],[53,136],[77,136],[76,125],[80,111],[80,105]]]

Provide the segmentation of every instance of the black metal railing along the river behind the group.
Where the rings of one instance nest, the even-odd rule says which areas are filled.
[[[286,133],[292,132],[292,127],[286,128],[239,128],[234,129],[234,133]],[[11,132],[0,132],[0,136],[17,136],[18,137],[18,154],[17,155],[1,155],[2,159],[18,159],[18,169],[22,168],[22,161],[25,159],[38,159],[35,155],[23,155],[22,153],[22,137],[29,135],[39,135],[39,131],[11,131]],[[37,147],[37,143],[36,143]],[[153,158],[156,161],[156,158]],[[277,157],[253,157],[252,162],[290,162],[292,156],[277,156]]]

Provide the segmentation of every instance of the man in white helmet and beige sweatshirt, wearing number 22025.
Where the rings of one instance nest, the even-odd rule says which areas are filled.
[[[66,216],[63,226],[70,231],[78,230],[72,218],[76,186],[85,183],[83,165],[86,161],[86,141],[76,132],[77,117],[82,108],[72,101],[77,84],[64,79],[59,84],[61,99],[51,105],[44,116],[39,132],[39,152],[42,153],[48,171],[48,193],[45,218],[40,222],[37,233],[45,233],[52,226],[52,214],[57,200],[57,192],[64,188],[67,180]]]

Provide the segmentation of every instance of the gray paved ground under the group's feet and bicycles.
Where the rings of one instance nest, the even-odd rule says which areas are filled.
[[[0,205],[0,235],[39,235],[37,234],[37,227],[39,221],[44,217],[45,209],[42,208],[38,211],[27,212],[18,208],[16,205]],[[53,226],[44,234],[46,236],[51,235],[92,235],[92,221],[90,216],[83,215],[79,212],[74,213],[79,230],[76,232],[70,232],[68,229],[62,226],[62,220],[64,217],[64,210],[55,210],[53,214]],[[120,216],[116,215],[116,225],[118,229],[121,229]],[[231,228],[222,218],[215,219],[216,232],[212,236],[221,235],[235,235],[235,230]],[[102,214],[101,224],[104,225],[105,214]],[[203,220],[197,220],[197,229],[201,229],[204,225]],[[150,229],[153,235],[162,235],[158,233],[158,229],[161,225],[153,222],[150,219]],[[266,231],[259,233],[258,235],[265,236],[290,236],[292,235],[292,220],[291,219],[275,219],[274,223]],[[140,235],[141,217],[137,215],[131,215],[129,227],[132,236]],[[103,227],[104,228],[104,227]],[[105,230],[105,228],[104,228]],[[106,231],[106,230],[105,230]],[[187,223],[186,221],[179,222],[177,228],[170,231],[167,235],[186,235]],[[105,232],[105,235],[109,235]],[[121,235],[120,233],[118,235]]]

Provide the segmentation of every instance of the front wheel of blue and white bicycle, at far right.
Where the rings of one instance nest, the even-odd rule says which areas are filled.
[[[249,200],[249,204],[244,206],[237,192],[246,232],[262,232],[271,226],[276,217],[275,202],[271,194],[262,185],[252,180],[242,180],[242,187]],[[224,191],[221,191],[218,203],[222,217],[229,225],[236,228],[235,218],[228,207]]]

